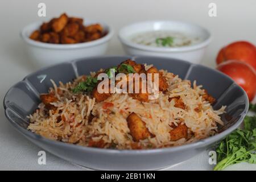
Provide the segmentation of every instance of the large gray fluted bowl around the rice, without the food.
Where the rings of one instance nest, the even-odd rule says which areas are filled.
[[[183,146],[153,150],[112,150],[57,142],[27,130],[29,121],[26,116],[38,107],[39,94],[46,93],[52,86],[50,79],[62,82],[72,81],[78,75],[88,75],[90,71],[108,68],[129,58],[131,57],[93,57],[40,69],[25,77],[6,93],[3,103],[6,117],[24,137],[60,158],[84,167],[118,170],[159,169],[183,162],[207,150],[242,123],[249,101],[243,89],[228,76],[214,69],[186,61],[140,56],[132,59],[138,63],[154,64],[159,69],[167,69],[183,79],[197,80],[197,84],[202,84],[213,97],[217,98],[214,109],[226,105],[227,113],[221,115],[225,126],[219,126],[219,133]]]

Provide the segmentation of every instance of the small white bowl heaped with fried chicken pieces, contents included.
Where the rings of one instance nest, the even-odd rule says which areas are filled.
[[[48,22],[28,24],[21,32],[36,68],[81,57],[104,55],[113,30],[104,22],[61,14]]]

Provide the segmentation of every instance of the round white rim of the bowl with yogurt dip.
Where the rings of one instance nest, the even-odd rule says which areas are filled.
[[[127,40],[127,38],[125,38],[122,35],[122,32],[126,30],[126,28],[131,27],[131,26],[138,26],[140,24],[144,24],[144,23],[181,23],[181,24],[187,24],[188,26],[191,27],[197,27],[200,28],[201,30],[207,32],[208,37],[207,39],[205,39],[203,42],[197,43],[195,45],[192,46],[183,46],[183,47],[153,47],[153,46],[144,46],[141,44],[137,44],[137,43],[133,43],[129,40]],[[140,32],[140,31],[138,31]],[[141,31],[142,32],[142,31]],[[136,49],[140,49],[143,51],[153,51],[153,52],[187,52],[187,51],[194,51],[196,49],[201,49],[203,47],[208,46],[208,44],[212,41],[212,34],[210,33],[210,31],[207,28],[201,27],[195,23],[190,23],[190,22],[185,22],[185,21],[179,21],[179,20],[147,20],[147,21],[142,21],[142,22],[135,22],[135,23],[131,23],[131,24],[127,24],[125,27],[122,27],[119,32],[118,32],[118,39],[121,41],[121,43],[125,44],[126,46],[132,47],[132,48],[136,48]]]

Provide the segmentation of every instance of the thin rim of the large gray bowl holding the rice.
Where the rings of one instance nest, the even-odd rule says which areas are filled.
[[[38,71],[42,71],[44,69],[48,69],[48,68],[51,68],[51,67],[56,66],[56,65],[61,65],[61,64],[71,64],[71,65],[73,65],[77,61],[81,61],[81,60],[86,61],[88,59],[96,59],[96,58],[104,59],[104,57],[125,57],[125,56],[111,56],[110,55],[110,56],[87,57],[87,58],[84,58],[84,59],[76,59],[76,60],[68,61],[67,63],[59,63],[59,64],[51,65],[51,66],[48,66],[46,68],[41,68]],[[136,59],[137,57],[155,57],[156,59],[157,58],[170,59],[170,58],[166,58],[166,57],[156,57],[156,56],[131,56],[131,59],[133,59],[133,58]],[[174,60],[179,60],[179,59],[174,59]],[[189,63],[188,61],[184,61],[184,60],[179,60],[179,61],[183,61],[185,63],[190,64],[190,67],[199,65],[199,64]],[[246,115],[246,113],[249,109],[249,100],[248,100],[248,97],[247,97],[247,94],[246,94],[245,90],[243,90],[241,88],[241,86],[237,85],[236,82],[234,82],[232,80],[232,78],[230,78],[229,76],[225,75],[224,73],[222,73],[222,72],[220,72],[216,69],[209,68],[209,67],[206,67],[204,65],[199,65],[199,66],[203,67],[203,68],[207,68],[207,69],[212,69],[214,72],[217,72],[218,74],[221,74],[225,78],[231,80],[232,84],[230,84],[230,86],[232,86],[232,85],[238,86],[238,89],[240,89],[243,92],[244,96],[246,96],[245,108],[243,109],[241,115],[238,116],[240,118],[236,121],[236,123],[234,123],[232,126],[229,126],[226,130],[222,131],[221,133],[218,133],[218,134],[216,134],[212,137],[208,137],[208,138],[205,138],[205,139],[198,140],[197,142],[194,142],[194,143],[183,144],[181,146],[172,146],[172,147],[165,147],[165,148],[154,148],[154,149],[146,149],[146,150],[126,150],[126,149],[125,150],[117,150],[117,149],[107,149],[107,148],[94,148],[94,147],[79,146],[79,145],[76,145],[76,144],[64,143],[64,142],[59,142],[59,141],[56,141],[56,140],[47,139],[45,137],[42,137],[41,135],[32,133],[29,130],[23,129],[15,121],[13,121],[13,119],[11,119],[11,117],[9,116],[9,114],[8,114],[9,110],[13,114],[16,114],[16,113],[13,109],[11,109],[10,107],[7,106],[6,100],[7,100],[7,96],[9,94],[10,90],[13,89],[15,87],[15,85],[18,85],[20,82],[26,82],[27,83],[27,80],[26,80],[27,76],[24,77],[22,81],[19,81],[15,85],[11,86],[11,88],[7,91],[7,93],[5,94],[5,97],[3,99],[3,107],[5,109],[6,118],[9,120],[11,125],[13,125],[16,130],[18,130],[20,133],[25,135],[25,137],[27,137],[28,139],[31,138],[31,139],[34,139],[34,140],[40,140],[40,142],[48,143],[48,144],[52,144],[52,145],[60,146],[60,147],[71,147],[73,150],[82,150],[82,151],[86,151],[86,152],[95,152],[97,154],[144,155],[144,154],[160,154],[160,153],[163,154],[163,153],[187,150],[187,149],[190,149],[190,148],[204,147],[204,146],[208,146],[209,144],[213,144],[214,142],[217,142],[218,140],[224,138],[226,135],[230,134],[232,131],[237,129],[238,126],[241,125],[241,123],[243,121],[243,118],[245,118],[245,115]],[[28,76],[30,76],[30,75],[32,75],[36,72],[37,71],[35,71],[33,73],[30,73]],[[19,117],[18,114],[16,114],[16,116]],[[22,118],[20,118],[20,119],[22,119]],[[22,119],[22,120],[24,120],[24,119]]]

